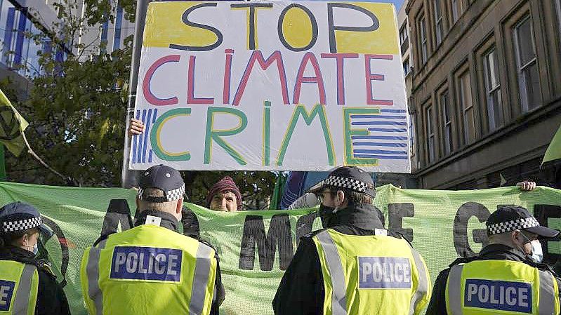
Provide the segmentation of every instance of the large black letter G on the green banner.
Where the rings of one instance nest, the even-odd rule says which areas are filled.
[[[459,257],[473,257],[476,255],[468,243],[468,221],[470,217],[475,216],[479,222],[485,222],[489,215],[489,210],[477,202],[466,202],[458,209],[458,213],[456,213],[454,218],[454,247]],[[485,233],[484,229],[473,230],[473,240],[477,243],[485,243],[485,239],[487,239]]]

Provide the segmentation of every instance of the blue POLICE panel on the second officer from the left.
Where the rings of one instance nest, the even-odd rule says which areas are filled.
[[[116,246],[110,278],[179,282],[181,258],[182,252],[178,249]]]

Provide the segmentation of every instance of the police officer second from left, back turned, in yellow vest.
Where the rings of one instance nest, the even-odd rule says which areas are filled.
[[[224,289],[216,251],[176,232],[184,193],[173,168],[142,173],[136,227],[102,236],[82,258],[89,314],[218,314]]]

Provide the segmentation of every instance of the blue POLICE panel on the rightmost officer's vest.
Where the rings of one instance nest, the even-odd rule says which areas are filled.
[[[466,279],[463,305],[532,314],[532,285],[515,281]]]

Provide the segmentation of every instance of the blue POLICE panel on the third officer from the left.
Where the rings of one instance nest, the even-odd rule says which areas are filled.
[[[358,257],[359,289],[411,288],[411,263],[404,257]]]

